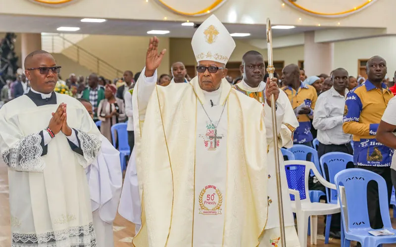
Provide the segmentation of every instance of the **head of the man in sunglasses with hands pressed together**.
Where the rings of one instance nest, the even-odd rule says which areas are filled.
[[[51,93],[58,81],[58,70],[48,69],[56,66],[55,59],[51,54],[36,54],[31,58],[30,68],[41,68],[35,70],[25,70],[26,77],[30,81],[32,88],[41,93]]]

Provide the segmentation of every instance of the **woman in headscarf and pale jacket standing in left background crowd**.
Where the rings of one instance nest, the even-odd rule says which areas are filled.
[[[114,84],[107,84],[104,88],[104,99],[98,107],[98,119],[101,121],[100,132],[112,142],[111,126],[125,120],[125,105],[122,99],[115,97],[117,88]]]

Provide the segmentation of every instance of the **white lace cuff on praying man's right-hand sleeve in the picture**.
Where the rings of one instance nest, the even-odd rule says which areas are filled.
[[[84,154],[84,159],[79,157],[79,163],[81,165],[92,164],[99,153],[101,142],[96,135],[90,135],[80,130],[77,130],[77,138],[80,140],[80,148]]]

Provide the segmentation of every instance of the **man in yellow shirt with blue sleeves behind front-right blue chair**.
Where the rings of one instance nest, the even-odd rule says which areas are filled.
[[[391,160],[393,150],[376,140],[377,128],[393,93],[382,82],[387,74],[387,63],[380,56],[367,61],[367,77],[361,85],[347,95],[344,110],[343,130],[353,135],[353,160],[358,168],[373,171],[387,182],[388,201],[391,198]],[[367,206],[370,225],[374,229],[383,227],[379,208],[378,186],[367,185]]]

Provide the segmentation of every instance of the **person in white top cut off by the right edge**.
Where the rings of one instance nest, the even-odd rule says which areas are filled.
[[[385,109],[384,115],[382,116],[380,125],[377,130],[377,141],[381,142],[389,148],[396,149],[396,97],[393,97],[387,108]],[[392,157],[391,163],[391,179],[392,184],[396,187],[396,156]]]

